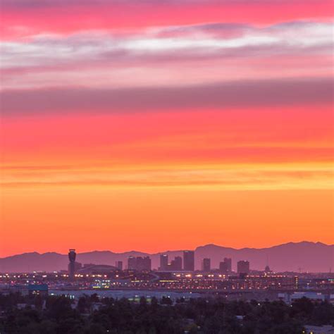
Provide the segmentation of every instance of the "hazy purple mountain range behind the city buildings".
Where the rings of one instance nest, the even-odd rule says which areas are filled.
[[[159,256],[162,253],[147,254],[142,252],[113,253],[110,251],[94,251],[78,253],[77,261],[82,264],[109,264],[115,261],[123,261],[126,264],[128,256],[150,256],[152,268],[159,267]],[[182,256],[183,251],[163,252],[168,254],[169,260],[174,256]],[[204,257],[211,259],[211,267],[218,268],[219,262],[224,257],[233,260],[233,268],[236,262],[243,259],[250,262],[251,269],[263,270],[268,264],[274,271],[302,271],[328,272],[334,270],[334,245],[325,245],[321,242],[289,242],[287,244],[268,248],[242,248],[234,249],[217,245],[204,245],[195,249],[195,266],[200,268]],[[18,254],[0,259],[0,272],[27,272],[27,271],[59,271],[67,269],[67,254],[49,252],[39,254],[37,252]]]

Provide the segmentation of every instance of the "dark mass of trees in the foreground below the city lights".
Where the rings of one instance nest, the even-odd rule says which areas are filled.
[[[0,333],[27,334],[302,334],[303,325],[334,325],[334,307],[302,298],[284,302],[224,299],[128,299],[0,295]]]

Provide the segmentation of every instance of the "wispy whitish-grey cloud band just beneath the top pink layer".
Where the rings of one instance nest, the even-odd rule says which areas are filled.
[[[47,66],[77,61],[113,61],[148,58],[201,58],[206,56],[266,56],[268,54],[330,54],[330,23],[285,23],[266,28],[215,23],[148,29],[128,35],[104,31],[36,35],[28,40],[1,43],[1,67]],[[255,52],[257,51],[257,52]]]

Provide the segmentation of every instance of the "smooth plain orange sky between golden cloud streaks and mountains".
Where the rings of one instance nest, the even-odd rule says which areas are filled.
[[[11,235],[1,242],[4,255],[66,252],[68,245],[80,252],[157,252],[207,242],[230,247],[333,243],[330,190],[47,185],[4,194],[2,218],[10,225],[1,230]]]

